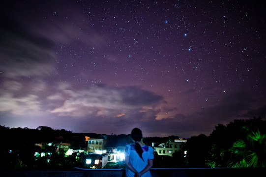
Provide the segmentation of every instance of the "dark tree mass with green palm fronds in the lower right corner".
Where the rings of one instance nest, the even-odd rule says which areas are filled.
[[[188,139],[189,167],[266,167],[266,121],[237,119],[218,124],[209,136]]]

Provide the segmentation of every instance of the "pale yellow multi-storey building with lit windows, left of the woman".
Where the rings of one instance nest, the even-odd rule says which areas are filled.
[[[88,138],[88,152],[103,154],[107,150],[105,148],[108,140],[107,139],[97,139],[97,138]]]

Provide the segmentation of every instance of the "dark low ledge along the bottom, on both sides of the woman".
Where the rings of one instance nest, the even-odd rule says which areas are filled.
[[[194,168],[151,169],[153,177],[265,177],[266,169]],[[125,177],[125,169],[74,169],[73,171],[0,171],[0,177]]]

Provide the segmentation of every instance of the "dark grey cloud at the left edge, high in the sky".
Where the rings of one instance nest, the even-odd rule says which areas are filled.
[[[41,76],[54,69],[55,55],[44,38],[29,34],[23,27],[0,28],[0,70],[8,78]]]

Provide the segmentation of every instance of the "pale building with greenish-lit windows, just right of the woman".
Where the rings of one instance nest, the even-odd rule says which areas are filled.
[[[186,140],[181,138],[174,140],[174,142],[167,142],[166,145],[162,143],[158,147],[154,147],[154,152],[156,151],[158,155],[169,155],[172,157],[173,153],[180,151],[185,143]]]

